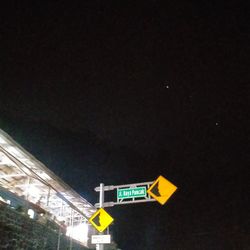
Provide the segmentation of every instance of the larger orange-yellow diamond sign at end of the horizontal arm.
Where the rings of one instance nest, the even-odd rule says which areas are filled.
[[[147,192],[151,197],[164,205],[176,189],[177,187],[173,183],[160,175]]]

